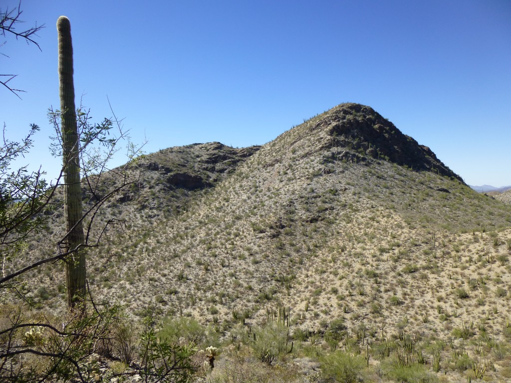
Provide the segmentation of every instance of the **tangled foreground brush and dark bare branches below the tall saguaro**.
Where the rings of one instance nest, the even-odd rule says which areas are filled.
[[[6,382],[75,376],[92,382],[134,374],[185,382],[197,371],[193,344],[159,338],[161,324],[153,312],[135,325],[119,306],[104,303],[95,305],[92,312],[51,318],[21,306],[2,304],[0,308],[1,371]],[[16,352],[9,355],[13,349]],[[101,362],[103,358],[119,362],[110,368]]]

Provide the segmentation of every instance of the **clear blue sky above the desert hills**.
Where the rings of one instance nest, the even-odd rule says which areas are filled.
[[[17,1],[0,0],[3,9]],[[262,144],[342,102],[373,107],[472,185],[511,184],[511,1],[22,0],[40,52],[8,37],[0,123],[55,172],[58,16],[71,20],[77,103],[124,117],[146,152]],[[0,41],[0,43],[3,41]]]

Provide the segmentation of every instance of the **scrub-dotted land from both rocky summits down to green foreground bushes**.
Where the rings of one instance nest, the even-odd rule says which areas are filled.
[[[310,363],[325,380],[505,379],[511,208],[415,145],[345,104],[262,147],[141,158],[140,179],[104,213],[130,225],[88,254],[92,295],[122,302],[132,321],[115,330],[123,365],[111,369],[129,371],[149,334],[154,347],[218,347],[213,370],[196,371],[212,382],[298,382],[296,366]],[[22,254],[49,251],[50,232],[57,225]],[[59,267],[19,285],[34,315],[62,312]],[[149,307],[160,314],[152,327]]]

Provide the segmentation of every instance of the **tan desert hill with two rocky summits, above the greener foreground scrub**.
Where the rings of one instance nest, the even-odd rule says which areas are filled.
[[[227,336],[289,307],[293,332],[337,320],[357,342],[444,342],[446,358],[453,337],[470,357],[471,340],[508,341],[511,206],[367,106],[341,104],[261,147],[194,144],[137,166],[105,212],[124,214],[129,230],[107,233],[88,274],[98,299],[134,317],[154,305]],[[59,306],[55,267],[37,278],[47,294],[34,299]],[[486,355],[497,376],[507,365]]]

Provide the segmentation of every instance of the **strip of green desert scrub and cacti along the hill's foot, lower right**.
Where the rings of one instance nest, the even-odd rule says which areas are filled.
[[[219,328],[206,328],[186,317],[168,317],[162,320],[156,337],[159,342],[203,350],[193,356],[193,379],[200,377],[207,382],[301,382],[312,378],[350,382],[500,381],[507,376],[511,347],[483,333],[475,340],[425,338],[420,330],[407,330],[405,321],[403,330],[388,336],[384,325],[350,329],[344,320],[326,323],[323,328],[328,330],[314,332],[293,329],[293,325],[288,328],[288,317],[280,319],[276,314],[279,309],[273,309],[274,314],[269,314],[273,320],[261,326],[233,324],[225,337]],[[294,332],[292,343],[290,331]]]

